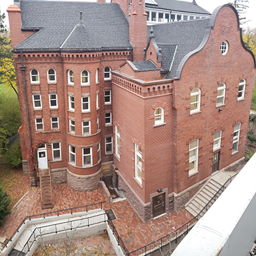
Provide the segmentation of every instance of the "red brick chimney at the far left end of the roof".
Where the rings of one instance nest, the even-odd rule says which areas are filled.
[[[33,31],[21,31],[21,10],[16,4],[11,4],[8,7],[7,12],[10,24],[10,34],[12,38],[12,48],[14,48],[17,44],[31,35]]]

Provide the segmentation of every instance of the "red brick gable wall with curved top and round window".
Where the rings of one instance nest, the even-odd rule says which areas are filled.
[[[225,7],[217,15],[207,44],[184,65],[180,81],[173,83],[175,116],[175,189],[189,188],[211,175],[212,143],[215,131],[222,130],[220,170],[244,156],[248,117],[255,82],[253,58],[241,45],[234,11]],[[229,49],[221,55],[220,45],[227,40]],[[244,100],[237,102],[238,85],[246,79]],[[226,83],[225,106],[216,108],[218,83]],[[189,115],[190,93],[200,88],[201,113]],[[234,125],[241,122],[239,152],[232,155]],[[198,173],[189,177],[189,141],[199,139]]]

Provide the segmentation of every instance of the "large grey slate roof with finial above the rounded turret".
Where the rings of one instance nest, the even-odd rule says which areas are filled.
[[[20,9],[22,30],[42,29],[15,49],[45,51],[61,45],[73,51],[131,48],[129,23],[118,4],[21,0]],[[79,12],[83,12],[83,28],[77,26]]]

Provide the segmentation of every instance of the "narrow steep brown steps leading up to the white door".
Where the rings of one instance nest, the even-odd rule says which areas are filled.
[[[50,169],[40,169],[40,189],[42,209],[52,208],[52,185]]]

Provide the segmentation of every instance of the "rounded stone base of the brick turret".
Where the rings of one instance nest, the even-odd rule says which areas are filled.
[[[77,175],[67,169],[67,184],[70,188],[85,192],[99,188],[101,168],[91,175]]]

